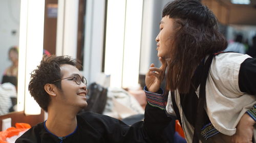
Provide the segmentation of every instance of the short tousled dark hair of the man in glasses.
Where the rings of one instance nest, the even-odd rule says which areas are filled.
[[[61,79],[60,66],[68,64],[72,66],[80,66],[70,56],[55,56],[50,57],[44,55],[40,65],[31,73],[31,79],[29,82],[29,91],[31,96],[36,100],[39,106],[48,111],[48,105],[50,103],[50,97],[45,91],[45,84],[51,83],[54,80]],[[61,90],[61,82],[56,81],[55,84],[58,89]]]

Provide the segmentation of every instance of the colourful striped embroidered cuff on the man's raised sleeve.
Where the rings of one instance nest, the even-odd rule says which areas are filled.
[[[165,104],[164,104],[164,97],[163,97],[163,90],[159,89],[157,93],[149,92],[146,88],[144,87],[144,92],[146,93],[147,97],[147,103],[150,104],[151,106],[158,107],[162,110],[165,110]]]

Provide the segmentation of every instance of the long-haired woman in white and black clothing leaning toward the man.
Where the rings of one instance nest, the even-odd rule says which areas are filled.
[[[166,110],[176,114],[187,142],[252,142],[256,60],[221,53],[227,42],[214,14],[197,0],[163,9],[156,38],[160,68],[151,65],[147,92],[157,94],[166,73]]]

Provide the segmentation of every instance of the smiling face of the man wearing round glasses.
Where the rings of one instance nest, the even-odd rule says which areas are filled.
[[[61,80],[61,91],[58,92],[58,100],[65,106],[78,107],[82,109],[87,106],[86,95],[87,85],[81,82],[79,85],[75,82],[74,75],[78,74],[82,78],[80,71],[68,64],[60,66],[61,78],[67,78]]]

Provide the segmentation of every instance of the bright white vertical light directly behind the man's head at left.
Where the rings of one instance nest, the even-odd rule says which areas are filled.
[[[30,73],[39,65],[42,58],[44,42],[44,16],[45,1],[23,0],[20,8],[20,52],[19,76],[18,80],[18,103],[25,99],[25,114],[38,115],[41,108],[31,97],[28,91]],[[25,89],[24,85],[25,84]],[[22,99],[22,95],[25,98]],[[22,110],[22,105],[18,104],[18,110]]]

